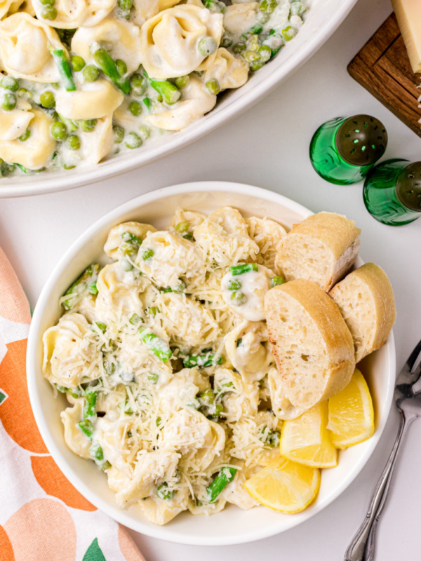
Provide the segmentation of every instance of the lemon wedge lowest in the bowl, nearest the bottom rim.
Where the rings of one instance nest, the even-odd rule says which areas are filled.
[[[320,471],[279,457],[244,484],[263,506],[282,513],[299,513],[309,506],[320,487]]]

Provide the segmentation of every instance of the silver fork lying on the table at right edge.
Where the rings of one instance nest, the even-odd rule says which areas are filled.
[[[368,507],[366,519],[359,527],[345,552],[344,561],[374,561],[375,532],[380,515],[385,508],[387,492],[396,462],[403,435],[411,422],[421,416],[421,341],[410,353],[396,381],[394,399],[398,407],[399,431],[390,453],[385,469],[377,481],[373,496]]]

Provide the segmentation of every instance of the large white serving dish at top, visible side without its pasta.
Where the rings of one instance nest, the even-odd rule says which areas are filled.
[[[258,102],[293,74],[335,32],[356,1],[308,0],[310,9],[305,25],[295,39],[270,64],[253,74],[242,88],[224,93],[213,111],[180,133],[164,137],[159,144],[147,143],[145,147],[119,154],[95,166],[0,179],[0,198],[49,193],[100,181],[151,163],[206,135]]]

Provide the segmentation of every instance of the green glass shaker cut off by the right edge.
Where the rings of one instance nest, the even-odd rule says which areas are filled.
[[[370,215],[383,224],[401,226],[421,216],[421,162],[394,158],[368,175],[363,189]]]

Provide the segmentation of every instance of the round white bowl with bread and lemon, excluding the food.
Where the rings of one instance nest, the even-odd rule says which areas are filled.
[[[168,525],[159,527],[152,525],[136,505],[126,511],[116,506],[114,493],[107,485],[107,476],[100,473],[92,461],[81,459],[65,445],[60,411],[67,401],[61,394],[53,399],[51,385],[42,375],[43,333],[60,318],[62,311],[58,299],[74,278],[92,262],[104,259],[103,246],[112,226],[127,220],[138,220],[164,228],[178,206],[208,213],[225,205],[238,208],[245,216],[276,219],[288,228],[312,214],[307,208],[272,191],[228,182],[176,185],[134,198],[95,222],[60,259],[36,304],[27,351],[29,396],[36,423],[53,459],[74,487],[109,516],[142,534],[203,546],[244,543],[279,534],[304,522],[339,496],[375,449],[385,427],[395,381],[394,339],[391,334],[387,344],[361,364],[373,395],[375,433],[366,442],[340,452],[338,467],[322,471],[319,495],[302,513],[286,515],[264,507],[241,511],[229,505],[221,513],[210,517],[182,513]],[[357,264],[362,264],[361,259]]]

